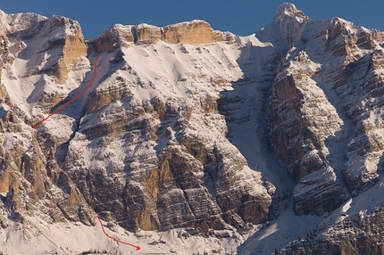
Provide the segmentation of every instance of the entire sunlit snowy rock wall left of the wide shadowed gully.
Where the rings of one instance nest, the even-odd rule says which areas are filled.
[[[227,56],[233,35],[213,31],[205,21],[115,25],[86,44],[76,21],[2,14],[4,221],[38,211],[48,222],[94,225],[94,211],[132,231],[188,226],[207,233],[270,219],[273,185],[230,144],[217,109],[221,86],[241,75],[236,60],[228,56],[221,63],[226,77],[199,67],[216,69],[214,60]],[[28,28],[27,18],[36,20]],[[44,39],[37,45],[35,38]],[[222,43],[206,45],[215,41]],[[131,61],[142,50],[144,69]],[[104,57],[87,96],[63,110],[63,118],[50,122],[57,121],[54,126],[29,127],[87,86],[96,53]],[[209,61],[196,60],[203,53]],[[151,73],[155,62],[162,66],[173,55],[188,58],[187,70],[174,62],[176,68]],[[29,61],[24,68],[21,58]],[[13,86],[21,84],[25,93],[18,95]]]

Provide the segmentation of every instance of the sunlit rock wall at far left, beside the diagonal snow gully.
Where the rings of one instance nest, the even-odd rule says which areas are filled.
[[[53,169],[47,162],[54,155],[49,155],[52,151],[46,149],[54,144],[49,139],[43,142],[41,133],[38,136],[28,131],[25,123],[29,123],[29,118],[18,107],[21,106],[18,105],[20,102],[13,100],[13,95],[20,93],[17,89],[15,91],[13,84],[22,83],[28,78],[50,74],[58,83],[66,80],[78,58],[86,55],[79,23],[63,17],[46,19],[33,13],[7,15],[1,12],[0,15],[4,70],[0,119],[0,192],[6,194],[2,197],[1,225],[8,225],[8,217],[21,223],[28,222],[29,217],[41,217],[51,223],[69,219],[95,225],[96,221],[79,189],[63,171]],[[41,41],[41,45],[29,45],[33,38],[41,37],[47,38]],[[46,52],[51,54],[47,55]],[[38,59],[40,62],[36,69],[18,72],[13,69],[13,64],[20,57],[27,59],[29,64]],[[40,102],[37,104],[43,111],[63,100],[59,93],[41,91],[38,96]],[[47,147],[40,146],[41,142],[47,143]]]

